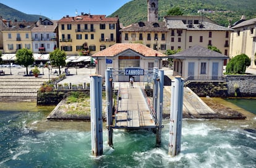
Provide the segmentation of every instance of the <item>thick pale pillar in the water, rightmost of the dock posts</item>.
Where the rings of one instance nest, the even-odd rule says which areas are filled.
[[[176,156],[181,152],[181,128],[184,81],[181,77],[174,79],[171,86],[171,114],[169,128],[169,155]]]

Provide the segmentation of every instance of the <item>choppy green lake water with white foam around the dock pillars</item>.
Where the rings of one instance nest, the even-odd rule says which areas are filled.
[[[114,130],[114,149],[92,156],[90,123],[46,121],[53,106],[0,103],[0,167],[256,167],[256,117],[183,119],[181,154],[168,156],[169,123],[162,144],[147,131]]]

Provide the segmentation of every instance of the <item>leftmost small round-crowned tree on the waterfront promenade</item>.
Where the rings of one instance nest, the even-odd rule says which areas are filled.
[[[28,65],[33,65],[33,63],[35,62],[32,51],[28,49],[17,50],[16,62],[26,67],[26,73],[28,75]]]

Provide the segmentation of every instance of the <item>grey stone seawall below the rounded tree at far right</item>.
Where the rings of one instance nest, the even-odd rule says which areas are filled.
[[[227,75],[229,97],[256,97],[256,75]]]

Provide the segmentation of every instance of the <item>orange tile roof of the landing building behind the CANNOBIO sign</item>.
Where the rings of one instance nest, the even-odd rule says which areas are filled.
[[[129,49],[134,50],[134,52],[137,52],[144,57],[155,57],[156,55],[158,57],[166,57],[165,54],[139,43],[117,43],[105,50],[93,54],[92,57],[114,57]]]

